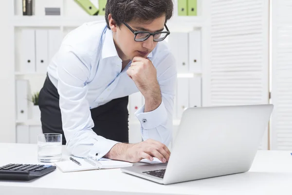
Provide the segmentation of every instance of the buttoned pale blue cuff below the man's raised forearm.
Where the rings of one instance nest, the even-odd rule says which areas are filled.
[[[144,113],[144,108],[145,105],[139,108],[135,112],[135,115],[140,120],[141,126],[145,130],[156,128],[157,126],[164,123],[164,121],[167,119],[167,111],[165,109],[163,101],[158,106],[158,108],[151,112]]]

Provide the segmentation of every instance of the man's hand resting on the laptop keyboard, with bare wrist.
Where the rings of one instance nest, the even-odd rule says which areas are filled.
[[[167,162],[169,156],[168,148],[163,143],[153,139],[147,139],[136,144],[117,143],[105,155],[106,158],[128,162],[139,162],[143,158],[152,161],[153,157],[157,157],[162,162]]]

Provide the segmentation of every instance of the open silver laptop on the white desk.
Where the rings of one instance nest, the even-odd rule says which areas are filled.
[[[160,184],[247,172],[273,108],[273,104],[188,108],[168,162],[121,171]]]

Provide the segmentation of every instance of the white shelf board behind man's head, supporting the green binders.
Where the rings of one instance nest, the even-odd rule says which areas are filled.
[[[105,21],[104,16],[14,16],[15,27],[77,27],[89,21]],[[203,20],[200,16],[174,16],[167,21],[170,28],[180,26],[202,27]]]

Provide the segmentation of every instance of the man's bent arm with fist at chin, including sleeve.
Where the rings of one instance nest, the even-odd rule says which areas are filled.
[[[135,113],[141,122],[143,140],[151,138],[167,146],[172,139],[177,70],[171,53],[153,62],[157,70],[149,59],[135,57],[127,73],[145,98],[145,105]]]

